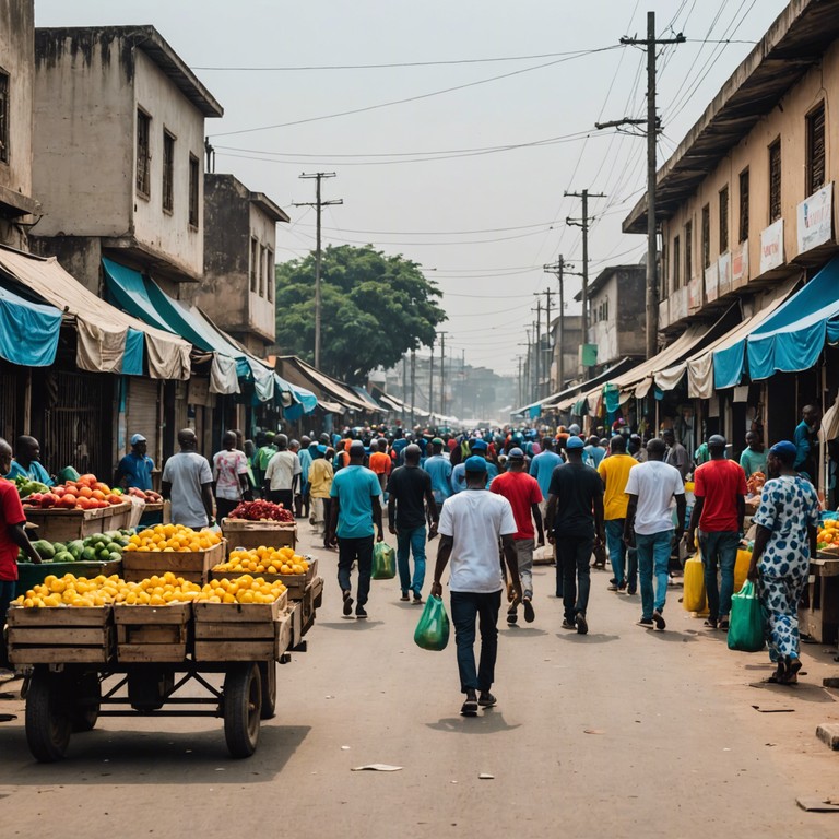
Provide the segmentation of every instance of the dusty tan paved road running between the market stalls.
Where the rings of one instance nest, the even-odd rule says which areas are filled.
[[[764,655],[729,652],[681,611],[680,590],[654,633],[595,571],[583,637],[559,628],[554,571],[540,568],[535,623],[501,630],[498,707],[463,719],[453,647],[413,645],[418,607],[380,581],[366,623],[342,618],[336,556],[312,553],[324,606],[309,652],[280,669],[279,713],[252,758],[228,758],[221,721],[131,718],[37,765],[22,704],[0,701],[20,714],[0,724],[0,837],[839,835],[839,814],[795,804],[839,795],[839,754],[815,738],[839,721],[839,694],[817,687],[839,665],[820,646],[794,693],[752,686],[770,672]],[[351,771],[368,763],[403,769]]]

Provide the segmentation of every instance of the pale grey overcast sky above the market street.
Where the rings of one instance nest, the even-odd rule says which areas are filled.
[[[206,122],[216,170],[291,214],[277,260],[315,247],[314,211],[291,206],[314,199],[314,181],[298,176],[335,172],[323,197],[344,204],[324,210],[324,243],[371,243],[420,262],[444,292],[447,354],[511,373],[534,292],[557,289],[542,265],[562,253],[580,268],[580,231],[565,223],[580,202],[565,191],[607,196],[589,204],[592,277],[646,250],[643,237],[621,233],[643,193],[645,140],[594,130],[646,114],[646,55],[621,36],[643,37],[654,11],[660,37],[688,39],[659,48],[661,165],[785,5],[36,0],[36,23],[156,26],[224,106]],[[336,66],[350,69],[317,69]],[[577,291],[569,279],[566,299]]]

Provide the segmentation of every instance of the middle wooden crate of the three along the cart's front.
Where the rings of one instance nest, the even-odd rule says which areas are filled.
[[[114,606],[117,661],[179,662],[187,657],[191,603]]]

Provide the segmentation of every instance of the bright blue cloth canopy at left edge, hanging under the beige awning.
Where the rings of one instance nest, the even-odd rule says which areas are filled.
[[[0,356],[24,367],[49,367],[56,361],[61,312],[0,285]]]

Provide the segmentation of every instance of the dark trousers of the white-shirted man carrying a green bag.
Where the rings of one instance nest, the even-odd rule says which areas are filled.
[[[498,610],[501,592],[477,594],[468,591],[451,592],[451,622],[458,648],[460,689],[488,690],[495,681],[495,660],[498,655]],[[475,666],[475,619],[481,630],[481,659]]]

